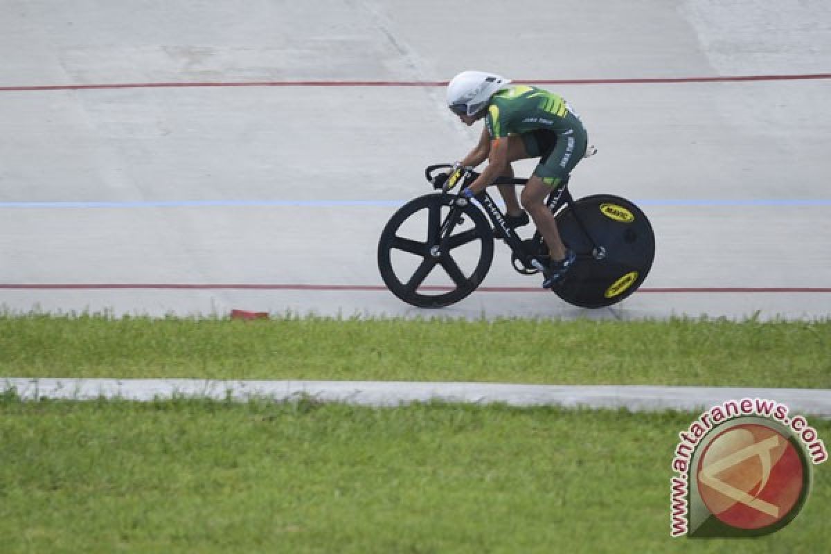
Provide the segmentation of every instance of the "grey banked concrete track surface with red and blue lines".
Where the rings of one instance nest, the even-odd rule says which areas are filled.
[[[831,315],[831,3],[0,0],[0,305],[225,315]],[[652,273],[568,306],[497,245],[441,311],[376,244],[470,130],[441,83],[544,83],[599,154],[573,193],[635,200]],[[517,164],[529,174],[534,164]]]

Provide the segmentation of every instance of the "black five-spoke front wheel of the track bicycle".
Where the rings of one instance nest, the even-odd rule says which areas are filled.
[[[472,227],[466,222],[454,225],[454,228],[450,229],[449,248],[446,248],[446,252],[440,252],[438,256],[430,252],[431,248],[437,247],[440,243],[440,230],[450,217],[450,205],[455,198],[455,196],[435,193],[413,199],[392,215],[381,232],[381,238],[378,241],[378,269],[381,272],[381,278],[390,292],[412,306],[440,308],[459,302],[479,287],[493,262],[493,230],[484,213],[473,203],[468,203],[464,208],[455,208],[461,210],[462,218],[470,218]],[[445,210],[448,212],[447,215],[442,214]],[[425,211],[427,233],[424,242],[399,234],[401,228],[408,222],[420,223],[420,218],[423,217],[422,212]],[[467,227],[465,230],[454,233],[458,227],[465,226]],[[465,272],[460,267],[461,256],[454,257],[454,251],[469,245],[476,248],[476,243],[478,243],[478,252],[473,252],[470,248],[465,252],[467,258],[471,257],[470,254],[475,257],[475,263],[468,263],[465,260],[463,263],[465,269],[473,267],[472,270]],[[420,257],[421,261],[418,262],[416,270],[410,272],[406,267],[397,267],[396,271],[396,262],[393,260],[393,253],[396,251],[411,255],[408,260],[409,265]],[[425,284],[436,267],[444,269],[444,277],[449,279],[449,283]]]

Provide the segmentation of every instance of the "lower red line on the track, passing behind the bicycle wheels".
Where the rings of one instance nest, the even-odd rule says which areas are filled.
[[[105,290],[185,290],[185,291],[317,291],[317,292],[377,292],[386,291],[382,285],[303,285],[303,284],[186,284],[186,283],[62,283],[62,284],[0,284],[5,291],[105,291]],[[426,291],[449,291],[450,287],[421,287]],[[539,287],[479,287],[477,292],[546,292]],[[831,293],[824,287],[656,287],[641,288],[638,292],[711,294],[711,293]]]

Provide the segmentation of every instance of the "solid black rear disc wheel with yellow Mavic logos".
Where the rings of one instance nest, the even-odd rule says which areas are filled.
[[[580,221],[594,243],[604,249],[602,257],[574,217]],[[596,194],[579,199],[573,208],[557,214],[563,243],[578,254],[577,262],[565,281],[554,292],[573,306],[600,308],[612,306],[637,291],[647,278],[655,259],[655,233],[647,216],[634,203],[612,194]]]

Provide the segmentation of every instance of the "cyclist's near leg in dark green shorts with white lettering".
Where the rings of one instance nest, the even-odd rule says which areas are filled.
[[[522,205],[529,213],[537,230],[548,245],[548,253],[552,260],[562,260],[566,257],[566,248],[557,229],[557,221],[553,213],[545,205],[548,194],[555,189],[571,173],[574,166],[586,152],[587,135],[581,126],[575,126],[568,133],[559,135],[550,145],[547,152],[543,152],[542,159],[534,175],[522,193]]]

